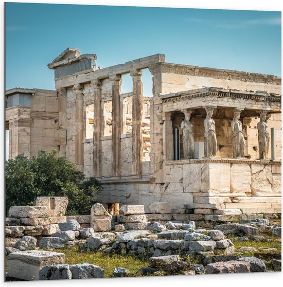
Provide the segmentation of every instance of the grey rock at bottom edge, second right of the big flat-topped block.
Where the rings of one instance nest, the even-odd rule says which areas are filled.
[[[104,270],[97,265],[83,263],[69,265],[73,279],[103,278]]]

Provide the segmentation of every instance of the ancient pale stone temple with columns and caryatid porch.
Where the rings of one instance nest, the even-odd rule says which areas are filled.
[[[165,62],[111,67],[66,49],[56,91],[6,91],[9,157],[52,147],[102,183],[102,203],[172,213],[281,212],[281,78]],[[152,97],[143,95],[143,69]],[[122,76],[132,92],[121,93]]]

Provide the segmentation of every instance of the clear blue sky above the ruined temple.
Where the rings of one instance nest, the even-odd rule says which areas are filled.
[[[47,64],[67,47],[96,53],[103,67],[164,53],[170,63],[281,75],[281,12],[6,3],[5,26],[6,89],[55,89]]]

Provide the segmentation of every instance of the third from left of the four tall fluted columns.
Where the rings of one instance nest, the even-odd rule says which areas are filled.
[[[121,174],[121,76],[112,75],[112,175]]]

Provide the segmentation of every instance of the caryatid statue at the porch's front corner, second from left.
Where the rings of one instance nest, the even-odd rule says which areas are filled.
[[[204,120],[204,155],[216,156],[217,140],[215,133],[215,121],[213,120],[214,107],[205,107],[206,118]]]

